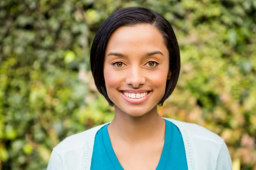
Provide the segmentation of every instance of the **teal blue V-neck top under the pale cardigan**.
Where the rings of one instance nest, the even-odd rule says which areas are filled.
[[[188,170],[185,147],[180,130],[172,122],[165,121],[165,141],[156,170]],[[96,133],[91,170],[123,170],[111,145],[108,125],[103,126]]]

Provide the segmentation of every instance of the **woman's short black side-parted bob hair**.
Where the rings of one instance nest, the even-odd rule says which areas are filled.
[[[114,104],[108,97],[103,74],[104,57],[108,40],[116,29],[138,24],[151,24],[158,28],[163,35],[166,48],[169,51],[169,71],[172,74],[171,78],[166,81],[165,94],[158,105],[163,105],[163,102],[172,94],[177,85],[180,74],[180,50],[170,23],[160,14],[148,8],[122,8],[111,14],[99,28],[93,39],[90,51],[90,68],[96,88],[111,106]]]

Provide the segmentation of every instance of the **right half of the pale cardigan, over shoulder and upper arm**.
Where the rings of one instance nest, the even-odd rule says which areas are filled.
[[[166,120],[179,128],[186,154],[192,157],[189,157],[189,166],[196,166],[200,170],[232,169],[232,161],[227,145],[220,136],[196,124],[174,119]],[[195,162],[194,165],[193,162]]]

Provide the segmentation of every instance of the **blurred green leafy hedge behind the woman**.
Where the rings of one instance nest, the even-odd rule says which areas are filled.
[[[111,121],[90,45],[128,6],[154,9],[177,35],[180,79],[161,116],[212,130],[233,170],[256,170],[256,0],[0,0],[0,169],[45,169],[58,142]]]

